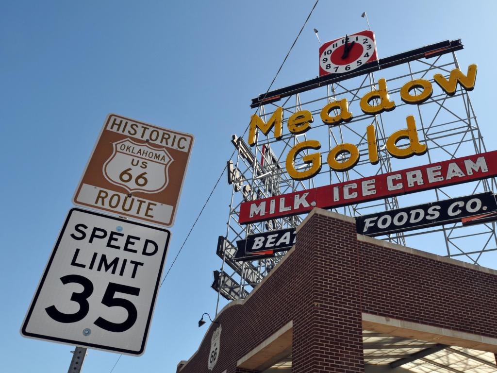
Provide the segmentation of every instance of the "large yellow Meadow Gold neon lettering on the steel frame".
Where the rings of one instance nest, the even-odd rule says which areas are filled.
[[[455,94],[458,85],[466,91],[471,91],[475,87],[477,74],[477,65],[472,64],[468,67],[467,74],[463,74],[459,69],[450,72],[448,79],[442,74],[433,76],[434,82],[448,95]],[[414,79],[402,86],[400,97],[403,102],[408,104],[420,104],[428,100],[433,94],[433,85],[428,79]],[[395,102],[390,99],[387,82],[385,79],[378,80],[378,90],[365,93],[359,101],[361,110],[370,115],[391,111],[395,108]],[[329,126],[338,125],[343,122],[349,122],[353,114],[349,110],[347,99],[337,99],[327,103],[320,112],[321,120]],[[292,114],[287,121],[288,130],[292,134],[302,134],[311,128],[313,115],[309,110],[300,110]],[[406,118],[407,128],[394,132],[386,139],[386,150],[395,158],[409,158],[414,155],[426,153],[426,144],[421,144],[414,116],[409,115]],[[319,127],[319,126],[317,126]],[[248,144],[255,145],[258,130],[264,135],[273,130],[274,138],[281,139],[283,132],[283,108],[278,107],[272,113],[267,122],[261,119],[257,114],[250,117],[248,132]],[[382,135],[383,136],[383,135]],[[378,149],[378,140],[376,128],[373,124],[366,127],[365,138],[367,140],[369,162],[376,165],[380,161],[381,152]],[[380,140],[383,140],[381,138]],[[409,144],[399,147],[401,140],[409,140]],[[296,144],[289,152],[286,158],[286,170],[288,175],[295,180],[306,180],[316,176],[322,167],[321,153],[315,152],[300,156],[299,153],[308,149],[319,150],[321,144],[317,140],[306,140]],[[348,157],[340,157],[348,153]],[[306,168],[297,170],[295,166],[296,159],[302,160]],[[359,162],[359,150],[357,146],[349,143],[343,143],[331,149],[327,156],[327,163],[334,171],[347,171],[353,168]]]

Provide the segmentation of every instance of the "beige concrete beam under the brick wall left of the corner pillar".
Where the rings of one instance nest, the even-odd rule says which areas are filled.
[[[293,321],[290,321],[264,342],[237,361],[238,368],[263,371],[292,351]]]

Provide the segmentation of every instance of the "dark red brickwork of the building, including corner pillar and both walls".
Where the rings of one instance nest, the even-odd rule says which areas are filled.
[[[497,276],[357,239],[350,218],[315,210],[297,244],[244,302],[217,317],[214,373],[293,320],[293,373],[364,372],[361,313],[497,337]],[[212,324],[181,373],[207,370]]]

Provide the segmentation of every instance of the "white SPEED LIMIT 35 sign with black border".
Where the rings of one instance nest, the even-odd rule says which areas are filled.
[[[169,238],[163,228],[71,209],[21,334],[142,355]]]

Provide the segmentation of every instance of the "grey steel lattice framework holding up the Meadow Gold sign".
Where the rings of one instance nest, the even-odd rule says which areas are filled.
[[[459,45],[458,49],[462,49],[462,44]],[[455,68],[459,68],[466,74],[468,67],[459,66],[454,48],[440,55],[425,53],[416,57],[408,59],[407,62],[387,66],[388,68],[382,67],[381,70],[376,69],[374,72],[356,74],[355,77],[346,80],[324,84],[319,88],[299,89],[296,87],[295,93],[290,91],[279,101],[271,102],[274,99],[268,99],[269,103],[263,102],[265,104],[260,105],[259,116],[264,121],[271,117],[278,106],[284,109],[283,136],[280,140],[275,140],[271,132],[266,137],[259,131],[256,144],[250,147],[245,139],[233,135],[232,143],[237,151],[233,159],[228,162],[228,182],[232,185],[233,192],[227,231],[224,236],[219,237],[217,248],[217,254],[223,263],[221,271],[215,271],[212,284],[220,295],[227,299],[244,298],[285,255],[285,253],[278,253],[270,259],[237,262],[233,259],[237,240],[244,239],[252,233],[295,227],[300,224],[304,216],[291,216],[241,225],[238,219],[240,204],[243,201],[385,174],[487,151],[469,94],[458,85],[458,90],[454,95],[447,95],[433,80],[433,75],[438,73],[448,79],[450,71]],[[396,108],[379,115],[366,115],[359,107],[359,100],[365,93],[378,89],[377,79],[379,78],[386,79],[390,99],[395,101]],[[419,105],[404,103],[400,98],[401,87],[414,79],[429,80],[433,86],[432,96]],[[476,88],[478,88],[478,81]],[[342,98],[347,98],[353,119],[338,126],[331,127],[323,124],[320,120],[321,109],[328,102]],[[311,130],[297,135],[289,133],[286,119],[302,109],[311,111],[314,116]],[[408,115],[414,115],[419,139],[421,143],[427,145],[428,151],[422,156],[399,160],[391,157],[386,151],[386,140],[394,131],[406,128],[406,116]],[[366,140],[366,126],[370,124],[375,126],[380,151],[380,162],[374,166],[368,159]],[[319,175],[300,182],[291,179],[286,174],[285,161],[288,151],[295,144],[305,140],[320,141],[319,151],[325,161]],[[341,143],[357,145],[360,154],[359,163],[347,172],[331,171],[326,164],[327,155],[333,147]],[[402,146],[402,143],[399,145]],[[303,170],[307,167],[302,160],[302,157],[307,154],[309,153],[302,152],[295,161],[297,169]],[[496,190],[495,179],[484,179],[400,197],[348,205],[333,209],[333,211],[349,216],[359,216],[489,190]],[[379,238],[402,245],[411,243],[413,247],[422,250],[478,264],[484,253],[497,250],[495,228],[495,222],[464,227],[456,223]]]

